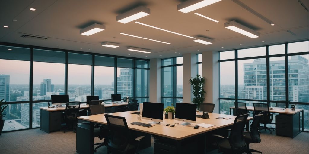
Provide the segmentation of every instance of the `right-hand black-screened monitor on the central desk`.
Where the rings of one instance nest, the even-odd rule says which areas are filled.
[[[196,120],[196,104],[176,103],[175,120],[184,121],[181,125],[189,125],[195,123]]]

